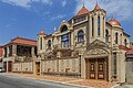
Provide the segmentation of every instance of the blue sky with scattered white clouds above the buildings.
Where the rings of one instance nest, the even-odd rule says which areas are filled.
[[[92,11],[96,2],[106,11],[106,22],[113,15],[133,42],[133,0],[0,0],[0,45],[17,36],[37,40],[41,30],[51,34],[83,4]]]

